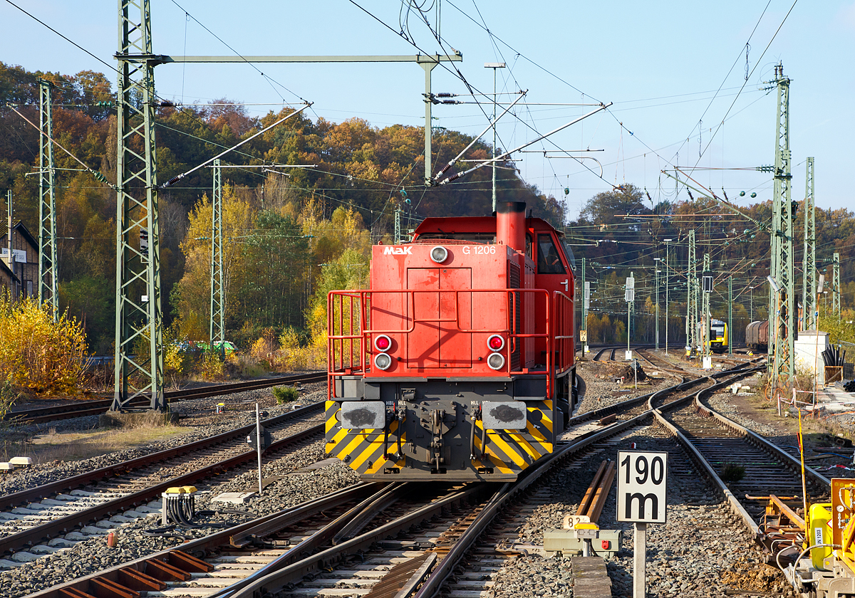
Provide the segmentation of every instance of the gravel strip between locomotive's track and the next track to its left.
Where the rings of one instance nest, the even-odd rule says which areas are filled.
[[[257,472],[245,472],[200,492],[197,496],[198,510],[217,510],[221,513],[194,519],[201,527],[176,528],[174,533],[191,538],[208,535],[225,526],[236,525],[268,513],[275,513],[300,502],[309,501],[319,495],[356,484],[358,476],[344,463],[333,463],[312,472],[297,472],[325,458],[324,442],[318,440],[296,453],[266,463],[262,467],[264,478],[278,477],[265,487],[261,496],[255,496],[245,505],[234,506],[212,502],[222,492],[246,492],[257,490]],[[230,509],[251,514],[227,513]],[[0,572],[0,598],[18,598],[64,583],[76,577],[120,565],[160,550],[180,546],[181,537],[146,536],[160,528],[160,516],[152,515],[115,530],[116,547],[109,548],[105,537],[80,542],[39,560],[26,563],[15,569]]]

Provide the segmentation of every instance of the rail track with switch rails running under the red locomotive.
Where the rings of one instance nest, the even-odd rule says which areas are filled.
[[[751,370],[741,366],[735,372],[716,372],[715,375],[734,378],[747,372]],[[704,380],[707,378],[684,381],[624,403],[661,400],[667,392],[681,392],[688,385],[701,384]],[[729,379],[717,385],[728,382]],[[669,405],[690,402],[708,390],[681,396]],[[512,528],[507,523],[495,523],[500,513],[509,513],[506,509],[515,501],[523,501],[526,496],[534,496],[530,500],[540,500],[535,484],[545,472],[559,464],[566,466],[570,460],[585,458],[604,447],[614,448],[628,434],[649,425],[656,411],[647,405],[634,417],[610,424],[597,422],[592,427],[592,420],[599,414],[586,413],[571,420],[556,452],[514,484],[446,487],[445,494],[430,495],[430,500],[423,502],[422,506],[406,508],[402,498],[412,492],[412,484],[392,484],[382,488],[371,484],[370,491],[366,490],[366,484],[361,484],[358,488],[363,489],[359,490],[362,494],[351,497],[349,502],[337,503],[337,511],[331,510],[333,507],[324,502],[332,500],[332,497],[325,497],[286,511],[279,519],[265,518],[239,530],[186,543],[178,554],[167,551],[127,564],[124,568],[116,567],[46,590],[38,596],[83,598],[90,595],[101,598],[126,595],[121,594],[127,591],[122,588],[133,590],[133,583],[137,583],[139,589],[146,589],[149,596],[228,595],[229,598],[248,598],[280,591],[295,596],[330,595],[331,592],[347,595],[345,589],[351,588],[358,589],[359,595],[369,598],[379,595],[424,598],[435,595],[446,583],[454,587],[452,595],[468,595],[460,593],[464,591],[461,587],[469,587],[466,583],[461,586],[461,579],[477,586],[481,582],[475,577],[488,581],[490,575],[483,571],[469,575],[464,564],[466,554],[476,550],[476,540],[487,531],[492,533],[492,542],[496,534]],[[427,494],[428,486],[417,486],[416,494]],[[355,489],[346,491],[357,492]],[[398,507],[390,508],[396,503]],[[341,509],[346,509],[346,512],[339,516]],[[396,517],[395,510],[405,513]],[[326,519],[309,519],[318,513],[324,513]],[[506,514],[505,517],[512,518],[513,515]],[[305,522],[303,527],[289,528],[297,520]],[[310,555],[301,556],[304,553]],[[195,560],[187,559],[186,555],[195,555],[192,556]],[[167,578],[162,573],[164,567],[152,564],[152,559],[179,570],[184,567],[184,571],[170,572],[171,577]],[[458,572],[456,579],[451,580],[451,573],[458,566],[463,566],[463,574]],[[121,588],[117,589],[115,584]],[[109,590],[105,589],[107,586]],[[396,594],[398,592],[404,593]]]

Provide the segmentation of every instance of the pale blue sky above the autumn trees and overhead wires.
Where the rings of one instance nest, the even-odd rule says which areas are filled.
[[[604,150],[592,154],[603,164],[602,179],[572,160],[549,160],[542,154],[516,155],[522,158],[518,165],[528,183],[561,198],[565,197],[564,187],[569,188],[566,201],[572,216],[594,193],[624,182],[646,187],[654,201],[673,199],[674,184],[661,178],[659,171],[676,161],[678,152],[683,166],[697,163],[702,167],[733,168],[772,163],[775,91],[766,93],[758,88],[762,81],[772,78],[774,64],[779,60],[793,79],[793,198],[804,196],[804,162],[806,156],[812,155],[816,158],[817,206],[851,208],[852,185],[846,182],[846,175],[850,172],[852,150],[847,149],[850,146],[846,139],[855,128],[855,0],[799,0],[770,45],[793,0],[771,0],[760,19],[767,2],[617,0],[523,4],[506,0],[428,0],[423,5],[426,9],[433,7],[428,12],[433,26],[437,4],[441,7],[441,48],[428,27],[419,24],[416,14],[410,14],[409,22],[411,37],[422,50],[450,52],[454,48],[463,52],[463,62],[456,66],[478,91],[492,92],[492,70],[484,68],[484,63],[506,62],[509,68],[498,72],[499,91],[528,89],[528,102],[581,103],[591,102],[592,98],[614,102],[609,113],[594,115],[552,138],[564,150]],[[117,3],[15,3],[106,62],[114,63]],[[177,3],[151,0],[156,54],[232,54],[196,21],[187,20],[185,11],[244,55],[418,51],[396,34],[401,4],[390,0],[357,3],[395,31],[380,25],[348,0]],[[107,72],[103,64],[32,21],[6,0],[0,0],[0,23],[0,61],[29,70],[68,74],[99,70],[115,80],[115,73]],[[495,38],[479,23],[486,23]],[[749,36],[748,66],[752,74],[746,83]],[[250,106],[251,114],[278,110],[283,100],[296,102],[302,97],[315,103],[309,113],[313,119],[321,116],[339,121],[357,116],[375,126],[423,123],[424,76],[422,68],[415,64],[264,64],[258,68],[269,79],[249,65],[163,65],[156,68],[156,86],[162,97],[176,101],[183,98],[186,103],[221,97],[245,103],[278,103]],[[433,91],[468,93],[457,73],[441,67],[433,71]],[[488,106],[484,109],[491,111]],[[581,114],[582,109],[518,109],[518,119],[508,114],[500,121],[499,145],[512,148],[523,144],[536,137],[529,127],[541,133],[551,131]],[[726,114],[727,120],[716,132]],[[437,106],[433,116],[434,126],[469,134],[480,132],[487,124],[481,109],[473,104]],[[715,138],[707,148],[713,133]],[[700,148],[705,149],[700,157],[699,137]],[[492,140],[491,135],[487,138]],[[544,147],[555,149],[552,144],[535,144],[531,149]],[[591,167],[599,173],[599,167],[593,163]],[[758,199],[771,196],[768,174],[715,170],[696,173],[696,178],[716,192],[724,186],[731,198],[741,190],[756,191]],[[685,197],[681,193],[681,198]]]

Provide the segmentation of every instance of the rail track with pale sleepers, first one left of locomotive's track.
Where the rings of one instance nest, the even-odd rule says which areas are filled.
[[[322,403],[294,409],[264,421],[268,431],[282,436],[268,447],[268,455],[290,451],[321,437]],[[113,466],[65,478],[0,498],[0,554],[44,546],[75,529],[98,535],[109,531],[91,524],[122,513],[144,517],[146,507],[174,486],[196,485],[239,467],[251,466],[256,451],[247,449],[247,425],[214,437],[169,448]],[[281,431],[281,433],[279,433]],[[269,458],[269,457],[268,457]],[[81,490],[82,489],[82,490]],[[134,511],[134,509],[138,509]],[[74,532],[73,541],[84,540]],[[32,548],[31,548],[32,549]]]

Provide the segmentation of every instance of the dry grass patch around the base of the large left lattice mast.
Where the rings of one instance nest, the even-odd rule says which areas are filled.
[[[127,448],[139,448],[164,438],[192,431],[177,425],[153,425],[92,431],[57,432],[51,428],[46,434],[22,439],[17,443],[4,443],[3,452],[8,460],[14,456],[32,457],[33,463],[50,463],[55,460],[77,461],[114,453]]]

